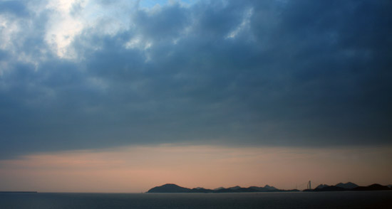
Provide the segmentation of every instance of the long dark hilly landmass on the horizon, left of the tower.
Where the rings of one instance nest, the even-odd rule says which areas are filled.
[[[216,188],[216,189],[207,189],[207,188],[185,188],[181,186],[177,186],[173,183],[167,183],[163,186],[155,186],[151,188],[148,193],[255,193],[255,192],[284,192],[284,191],[299,191],[296,189],[293,190],[281,190],[274,188],[273,186],[249,186],[248,188],[242,188],[240,186],[234,186],[230,188]]]

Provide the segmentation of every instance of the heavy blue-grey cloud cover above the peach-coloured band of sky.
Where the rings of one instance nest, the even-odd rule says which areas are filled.
[[[156,2],[0,1],[0,158],[391,145],[392,1]]]

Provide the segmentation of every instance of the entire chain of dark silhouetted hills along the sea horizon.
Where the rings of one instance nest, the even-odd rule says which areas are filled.
[[[370,186],[358,186],[355,183],[338,183],[335,186],[320,184],[314,189],[305,189],[304,192],[319,192],[319,191],[392,191],[392,186],[382,186],[374,183]],[[300,192],[298,189],[283,190],[275,188],[274,186],[266,185],[264,187],[249,186],[247,188],[234,186],[230,188],[185,188],[177,186],[174,183],[166,183],[163,186],[155,186],[147,193],[259,193],[259,192]]]

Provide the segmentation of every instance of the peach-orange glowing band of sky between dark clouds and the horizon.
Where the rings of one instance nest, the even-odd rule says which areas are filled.
[[[31,154],[0,161],[4,189],[145,192],[164,183],[195,188],[306,188],[306,181],[361,185],[391,180],[391,148],[128,146]],[[361,173],[361,175],[358,175]],[[235,183],[236,185],[233,185]]]

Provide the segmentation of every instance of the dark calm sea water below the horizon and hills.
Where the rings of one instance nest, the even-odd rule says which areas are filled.
[[[0,193],[0,208],[392,208],[392,192]]]

